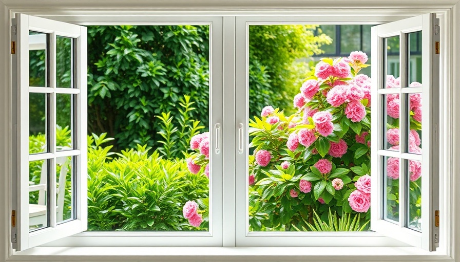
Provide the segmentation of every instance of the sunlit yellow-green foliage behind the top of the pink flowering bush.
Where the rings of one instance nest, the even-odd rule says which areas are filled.
[[[325,35],[315,36],[315,25],[249,27],[250,116],[260,115],[266,105],[294,113],[292,101],[309,66],[304,61],[321,54],[323,45],[332,43]]]

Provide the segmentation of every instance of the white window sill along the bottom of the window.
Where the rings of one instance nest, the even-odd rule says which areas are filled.
[[[414,247],[36,247],[7,260],[78,261],[454,261]]]

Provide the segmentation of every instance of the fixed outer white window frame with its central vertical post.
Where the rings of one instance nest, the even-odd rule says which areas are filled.
[[[365,19],[369,19],[372,23],[375,23],[375,21],[379,21],[380,23],[384,23],[387,21],[392,21],[392,20],[397,20],[399,18],[404,18],[404,17],[409,17],[417,14],[422,14],[422,13],[427,13],[430,11],[433,11],[429,8],[429,6],[426,9],[420,8],[417,10],[414,9],[405,9],[401,8],[401,6],[404,5],[410,5],[413,3],[410,3],[410,1],[400,1],[401,6],[399,9],[396,9],[397,6],[386,6],[384,8],[375,8],[373,9],[372,7],[369,7],[369,10],[340,10],[340,7],[335,7],[335,8],[330,8],[329,10],[325,9],[315,9],[315,8],[308,8],[308,7],[303,7],[303,9],[292,9],[292,10],[284,10],[280,11],[277,9],[271,9],[267,11],[261,11],[261,9],[264,9],[267,6],[270,6],[267,3],[261,3],[258,8],[254,8],[252,10],[238,10],[235,8],[234,10],[229,10],[229,11],[222,11],[219,8],[216,8],[215,10],[192,10],[190,9],[189,11],[171,11],[165,8],[164,10],[157,10],[155,8],[151,8],[150,10],[146,11],[145,7],[141,7],[140,5],[137,7],[135,11],[129,10],[129,11],[122,11],[122,8],[114,8],[112,10],[108,11],[92,11],[91,10],[91,5],[87,4],[86,9],[79,9],[79,10],[73,10],[71,12],[67,12],[69,15],[62,16],[63,12],[62,10],[54,10],[54,11],[40,11],[39,9],[36,9],[36,6],[30,6],[28,4],[24,4],[24,6],[21,6],[21,4],[15,5],[13,2],[8,2],[8,0],[4,0],[4,2],[7,2],[7,5],[0,3],[0,13],[5,14],[5,17],[2,17],[2,21],[0,23],[0,27],[2,28],[2,33],[4,34],[3,40],[0,41],[0,61],[4,61],[1,64],[2,70],[0,70],[0,79],[2,79],[2,85],[6,86],[7,88],[2,89],[0,92],[2,92],[2,96],[0,96],[2,99],[1,103],[2,106],[4,106],[4,111],[1,111],[2,115],[1,118],[4,119],[4,122],[11,123],[11,116],[10,116],[10,108],[11,108],[11,103],[9,101],[9,96],[11,94],[10,88],[8,86],[10,85],[10,55],[9,55],[9,49],[10,49],[10,42],[9,42],[9,18],[11,18],[11,15],[13,12],[23,12],[23,13],[28,13],[32,15],[39,15],[39,16],[45,16],[48,18],[52,19],[58,19],[62,21],[73,21],[76,23],[82,23],[83,21],[88,21],[88,20],[101,20],[101,23],[110,21],[110,20],[115,20],[119,18],[113,18],[114,16],[121,16],[121,15],[127,15],[130,14],[132,15],[133,13],[136,13],[137,17],[131,18],[133,20],[141,20],[141,14],[144,14],[146,18],[152,18],[152,15],[172,15],[172,14],[188,14],[188,15],[197,15],[197,14],[209,14],[209,15],[225,15],[224,17],[224,37],[227,36],[230,38],[230,40],[225,41],[224,45],[228,45],[228,50],[224,49],[225,54],[231,55],[231,47],[232,45],[235,45],[235,41],[232,41],[232,34],[229,33],[227,30],[231,30],[232,28],[234,29],[234,24],[232,25],[232,21],[235,19],[235,14],[244,14],[244,13],[251,13],[254,15],[260,15],[263,13],[263,15],[271,15],[271,14],[284,14],[286,16],[282,17],[283,19],[287,20],[290,19],[291,16],[293,15],[311,15],[316,14],[317,17],[325,16],[328,15],[330,17],[333,17],[334,19],[331,20],[331,23],[335,23],[337,20],[340,21],[347,21],[347,23],[353,24],[356,23],[356,21],[351,21],[353,20],[353,17],[366,17]],[[352,1],[350,1],[352,2]],[[355,5],[359,5],[358,1],[355,1],[353,3],[347,3],[349,5],[352,5],[355,3]],[[408,4],[409,3],[409,4]],[[10,247],[9,243],[11,239],[9,238],[9,225],[10,225],[10,216],[8,212],[0,212],[0,222],[2,223],[2,227],[0,227],[0,248],[4,252],[0,253],[4,257],[0,257],[1,259],[6,259],[10,257],[10,259],[14,260],[35,260],[35,259],[45,259],[45,260],[51,260],[51,259],[71,259],[71,258],[80,258],[82,259],[81,255],[82,252],[87,252],[85,253],[85,258],[88,260],[95,260],[101,258],[100,255],[106,255],[107,252],[110,252],[110,256],[104,257],[104,259],[111,259],[111,260],[126,260],[126,257],[117,257],[117,255],[132,255],[136,254],[139,259],[138,260],[149,260],[152,259],[152,255],[156,256],[166,256],[171,258],[172,256],[177,255],[178,252],[182,252],[181,254],[184,256],[181,259],[198,259],[198,260],[204,260],[204,259],[209,259],[213,260],[216,259],[220,256],[238,256],[239,258],[250,258],[253,256],[273,256],[274,258],[278,257],[278,259],[282,259],[285,256],[301,256],[304,259],[312,259],[313,261],[315,260],[327,260],[332,259],[331,256],[327,256],[328,254],[336,254],[339,255],[340,257],[347,258],[347,259],[363,259],[363,260],[375,260],[377,257],[380,259],[393,259],[393,260],[407,260],[407,259],[412,259],[414,261],[420,261],[420,260],[432,260],[432,261],[437,261],[437,260],[451,260],[454,258],[458,258],[460,256],[460,245],[458,245],[458,242],[460,242],[459,235],[460,235],[460,224],[458,220],[460,219],[460,207],[458,205],[458,200],[460,199],[460,192],[458,190],[453,190],[453,188],[456,188],[455,185],[458,187],[459,180],[458,178],[455,178],[453,176],[453,171],[460,171],[460,163],[458,161],[451,161],[452,156],[455,156],[453,154],[459,153],[460,151],[451,145],[454,143],[458,142],[458,135],[455,134],[453,130],[458,129],[460,126],[458,125],[459,115],[458,113],[455,112],[460,112],[460,105],[458,103],[452,103],[452,101],[455,101],[454,98],[458,97],[458,91],[455,91],[454,88],[452,88],[453,84],[452,83],[457,83],[460,81],[460,77],[456,74],[452,74],[452,72],[458,72],[460,70],[460,52],[457,51],[455,48],[453,48],[452,45],[452,39],[454,39],[454,42],[460,42],[460,34],[458,33],[458,26],[460,24],[460,5],[457,4],[454,7],[454,3],[444,3],[445,7],[443,8],[438,8],[438,5],[440,3],[436,3],[436,11],[439,15],[439,17],[442,19],[442,24],[441,24],[441,33],[442,33],[442,52],[443,52],[443,60],[442,60],[442,86],[445,86],[447,88],[442,89],[442,101],[445,102],[442,111],[445,112],[445,114],[442,116],[441,119],[441,127],[440,128],[440,134],[442,134],[442,143],[444,147],[442,148],[441,151],[441,158],[444,160],[443,164],[441,165],[443,167],[442,174],[444,173],[444,177],[442,179],[442,198],[443,202],[441,203],[441,210],[443,212],[445,211],[446,213],[442,213],[441,216],[441,240],[445,244],[444,246],[441,247],[442,251],[436,251],[436,253],[428,253],[428,252],[420,252],[418,250],[415,250],[414,248],[406,248],[406,247],[401,247],[401,248],[395,248],[395,247],[390,247],[390,248],[363,248],[359,247],[359,243],[356,248],[350,248],[350,247],[312,247],[312,248],[301,248],[301,249],[296,249],[296,248],[247,248],[247,249],[225,249],[225,248],[99,248],[99,247],[93,247],[93,248],[56,248],[56,247],[41,247],[41,248],[35,248],[33,250],[28,250],[22,253],[14,253]],[[116,6],[114,3],[110,3],[113,6]],[[49,3],[48,3],[49,5]],[[134,5],[134,4],[133,4]],[[180,5],[180,4],[178,4]],[[228,5],[228,3],[227,3]],[[264,6],[265,5],[265,6]],[[318,5],[318,4],[316,4]],[[328,7],[327,4],[323,4],[325,8]],[[273,5],[272,5],[273,6]],[[372,6],[372,5],[370,5]],[[263,8],[262,8],[263,7]],[[374,6],[375,7],[375,6]],[[342,8],[347,8],[346,6],[343,6]],[[63,10],[71,10],[71,9],[66,9],[64,8]],[[82,17],[82,15],[88,15],[85,17]],[[101,16],[101,15],[107,15],[107,16]],[[110,17],[112,15],[112,17]],[[289,16],[288,16],[289,15]],[[123,17],[127,18],[127,16]],[[235,85],[235,79],[233,79],[232,72],[235,68],[234,61],[232,59],[224,60],[224,67],[228,70],[224,70],[224,84],[226,86],[234,86]],[[227,73],[230,72],[230,73]],[[227,77],[225,77],[227,76]],[[235,96],[232,90],[226,89],[224,91],[224,94],[226,96],[226,100],[224,101],[224,106],[227,109],[232,109],[235,108],[235,104],[233,103],[232,105],[232,100],[235,100]],[[227,100],[227,95],[230,97],[229,100]],[[452,98],[454,97],[454,98]],[[229,110],[229,111],[230,111]],[[233,118],[232,118],[233,117]],[[224,119],[234,119],[234,115],[231,112],[225,112],[224,113]],[[453,129],[455,127],[455,129]],[[223,127],[223,132],[227,132],[227,135],[229,136],[236,136],[237,132],[234,126],[224,126]],[[5,129],[0,129],[0,137],[4,138],[4,140],[0,141],[0,149],[4,154],[4,158],[0,159],[0,166],[2,167],[3,173],[8,174],[10,173],[11,170],[11,159],[8,157],[8,152],[11,150],[11,145],[9,144],[8,138],[11,138],[11,132],[9,131],[8,128]],[[232,159],[232,155],[234,152],[234,149],[236,147],[235,141],[223,141],[224,143],[224,156],[226,154],[226,159]],[[227,148],[233,147],[231,150],[228,150]],[[225,167],[225,163],[224,163]],[[229,183],[234,183],[234,167],[232,166],[227,166],[228,169],[225,167],[225,173],[224,173],[224,180],[225,182]],[[0,177],[0,183],[1,185],[4,186],[4,195],[5,201],[0,201],[0,209],[2,210],[10,210],[10,193],[11,193],[11,188],[10,188],[10,179],[9,176],[1,176]],[[224,189],[225,190],[225,189]],[[228,192],[224,191],[224,201],[227,202],[229,201],[230,203],[235,201],[235,194],[234,192]],[[227,202],[228,203],[228,202]],[[455,205],[454,205],[455,204]],[[444,215],[443,215],[444,214]],[[232,219],[234,220],[235,218],[235,213],[232,214],[232,208],[229,210],[224,210],[224,219],[228,219],[228,222],[231,222]],[[232,236],[233,238],[235,235],[232,235],[232,232],[225,232],[224,231],[224,246],[232,246],[232,242],[234,243],[234,240],[232,241]],[[362,238],[362,236],[359,236]],[[340,237],[342,238],[342,237]],[[369,237],[372,238],[372,237]],[[225,244],[226,243],[226,244]],[[457,243],[457,245],[454,245]],[[105,253],[104,253],[105,252]],[[40,255],[41,257],[37,257],[36,255]],[[54,254],[54,255],[52,255]],[[57,254],[57,255],[56,255]],[[205,257],[203,257],[203,255]],[[335,260],[340,260],[340,257],[334,257],[333,259]],[[161,260],[161,257],[159,258]]]

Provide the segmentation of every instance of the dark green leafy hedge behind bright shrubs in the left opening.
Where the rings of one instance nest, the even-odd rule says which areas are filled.
[[[116,138],[115,150],[160,146],[155,116],[186,122],[177,110],[183,95],[195,101],[190,119],[207,126],[208,26],[91,26],[88,46],[88,130]]]

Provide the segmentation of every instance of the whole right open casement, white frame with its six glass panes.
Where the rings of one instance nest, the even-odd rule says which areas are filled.
[[[371,230],[429,251],[439,238],[438,25],[425,14],[372,28]]]

